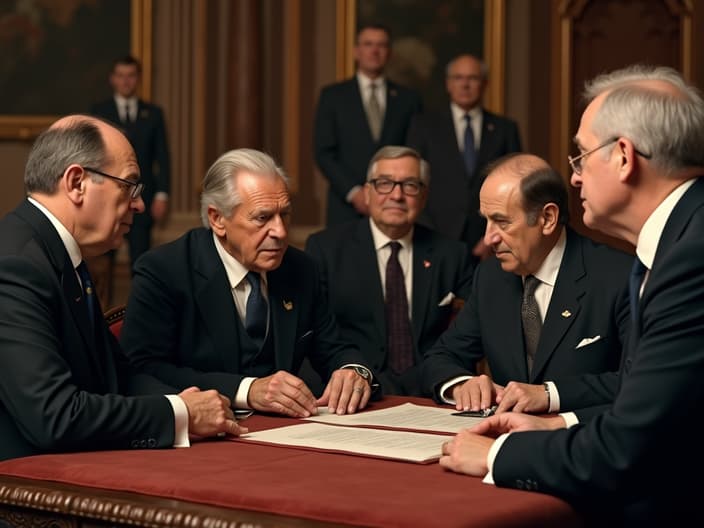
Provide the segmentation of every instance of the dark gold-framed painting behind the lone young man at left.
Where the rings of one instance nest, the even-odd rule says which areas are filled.
[[[151,13],[151,0],[0,3],[0,139],[33,139],[109,97],[112,63],[128,53],[148,96]]]

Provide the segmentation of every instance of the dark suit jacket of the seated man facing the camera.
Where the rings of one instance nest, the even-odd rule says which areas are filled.
[[[377,372],[386,394],[421,395],[420,362],[447,328],[449,293],[467,298],[472,267],[466,244],[423,226],[413,232],[412,318],[415,365],[399,380],[388,369],[384,292],[369,219],[363,218],[312,235],[306,251],[317,261],[323,292],[345,341],[355,343]],[[400,382],[401,381],[401,382]],[[410,387],[412,390],[404,390]]]

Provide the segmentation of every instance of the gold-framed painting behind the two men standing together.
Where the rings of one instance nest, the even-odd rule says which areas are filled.
[[[365,22],[391,29],[387,74],[423,94],[426,106],[446,104],[446,64],[460,53],[472,53],[491,72],[484,106],[503,112],[505,0],[337,0],[339,79],[354,74],[355,31]]]

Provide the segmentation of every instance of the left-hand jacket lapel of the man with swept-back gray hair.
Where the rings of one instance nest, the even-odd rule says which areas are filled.
[[[194,242],[194,298],[208,328],[216,353],[222,357],[226,372],[239,372],[238,314],[232,298],[225,267],[215,250],[209,230],[200,231]]]

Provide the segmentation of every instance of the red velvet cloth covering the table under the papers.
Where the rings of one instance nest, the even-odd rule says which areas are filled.
[[[406,401],[385,398],[372,409]],[[300,423],[272,416],[252,431]],[[575,526],[565,502],[412,463],[228,440],[189,449],[41,455],[0,474],[360,526]]]

